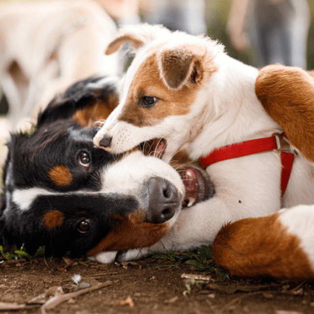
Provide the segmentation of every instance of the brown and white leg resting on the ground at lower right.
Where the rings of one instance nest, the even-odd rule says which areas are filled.
[[[314,206],[283,209],[222,228],[212,245],[215,262],[242,277],[314,279]]]

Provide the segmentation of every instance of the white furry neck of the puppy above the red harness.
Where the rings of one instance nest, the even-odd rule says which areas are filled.
[[[185,126],[192,128],[185,127],[178,133],[177,139],[174,138],[181,143],[176,150],[184,147],[192,159],[206,156],[224,145],[281,131],[256,97],[258,70],[225,54],[217,56],[216,61],[218,72],[200,91],[187,117]],[[169,146],[172,147],[172,144]],[[167,156],[172,154],[169,152]]]

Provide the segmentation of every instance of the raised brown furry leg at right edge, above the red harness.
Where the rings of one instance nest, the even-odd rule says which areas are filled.
[[[255,92],[293,146],[314,161],[314,74],[295,67],[262,68]]]

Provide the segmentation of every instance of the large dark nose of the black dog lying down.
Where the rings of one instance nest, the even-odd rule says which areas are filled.
[[[151,178],[146,186],[148,193],[146,222],[161,224],[172,218],[181,204],[177,188],[161,178]]]

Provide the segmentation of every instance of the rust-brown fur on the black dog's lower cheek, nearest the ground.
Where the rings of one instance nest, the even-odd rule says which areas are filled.
[[[100,243],[89,250],[86,256],[103,251],[123,251],[148,247],[166,234],[168,224],[150,224],[143,222],[143,215],[132,213],[128,216],[115,216],[110,232]]]

